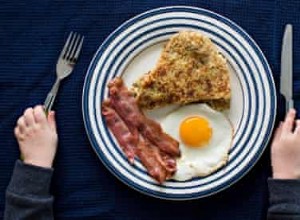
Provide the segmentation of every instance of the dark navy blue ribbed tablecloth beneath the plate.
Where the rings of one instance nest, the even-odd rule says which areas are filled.
[[[59,149],[51,191],[56,219],[264,219],[268,207],[269,148],[238,183],[209,198],[172,202],[142,195],[119,182],[99,161],[86,136],[81,95],[88,65],[103,40],[127,19],[161,6],[189,5],[228,17],[265,53],[278,88],[281,38],[294,25],[294,92],[300,105],[300,3],[271,0],[81,0],[0,2],[0,216],[18,146],[13,128],[23,110],[43,103],[70,31],[85,35],[74,73],[57,97]],[[279,100],[278,119],[284,104]],[[298,108],[299,109],[299,108]],[[1,218],[1,217],[0,217]]]

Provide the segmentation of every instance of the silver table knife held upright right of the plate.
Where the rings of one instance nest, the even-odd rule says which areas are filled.
[[[280,93],[285,97],[286,112],[294,107],[293,101],[293,27],[285,26],[281,50]]]

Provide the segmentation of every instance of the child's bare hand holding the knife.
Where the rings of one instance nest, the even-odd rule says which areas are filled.
[[[300,178],[300,120],[291,109],[275,132],[271,146],[273,178]],[[295,127],[295,129],[293,129]]]

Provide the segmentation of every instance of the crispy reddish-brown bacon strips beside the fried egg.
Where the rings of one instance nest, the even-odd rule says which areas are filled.
[[[137,156],[148,173],[163,183],[176,172],[178,142],[143,114],[122,79],[109,83],[109,95],[102,103],[102,114],[129,162]]]

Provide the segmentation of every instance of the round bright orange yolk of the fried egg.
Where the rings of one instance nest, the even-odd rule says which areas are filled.
[[[200,147],[209,142],[212,128],[202,117],[193,116],[184,119],[179,128],[181,140],[191,147]]]

